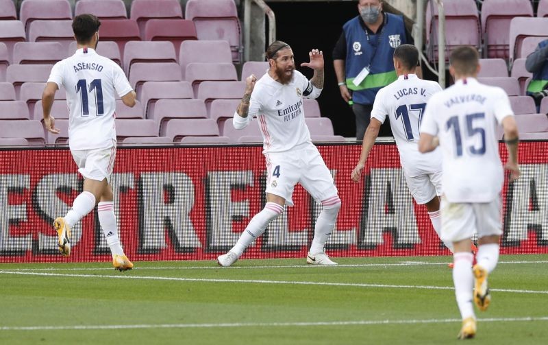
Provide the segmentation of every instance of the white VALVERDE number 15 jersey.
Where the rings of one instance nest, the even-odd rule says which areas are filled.
[[[491,202],[503,185],[497,123],[514,116],[502,88],[458,80],[429,100],[421,133],[438,136],[449,202]]]

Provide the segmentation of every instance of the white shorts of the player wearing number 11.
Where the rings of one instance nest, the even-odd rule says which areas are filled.
[[[110,183],[110,175],[116,158],[116,145],[105,149],[71,150],[78,172],[91,180]]]

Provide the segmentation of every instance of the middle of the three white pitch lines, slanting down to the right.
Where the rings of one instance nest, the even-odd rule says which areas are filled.
[[[114,279],[145,279],[154,281],[192,281],[206,283],[255,283],[255,284],[286,284],[286,285],[322,285],[322,286],[346,286],[346,287],[386,287],[395,289],[431,289],[431,290],[453,290],[449,286],[433,285],[391,285],[391,284],[367,284],[367,283],[331,283],[315,281],[267,281],[262,279],[225,279],[225,278],[180,278],[166,276],[111,276],[104,274],[63,274],[45,272],[16,272],[3,271],[0,274],[20,274],[29,276],[66,276],[73,278],[114,278]],[[521,289],[490,289],[495,292],[514,292],[517,294],[548,294],[548,290],[521,290]]]

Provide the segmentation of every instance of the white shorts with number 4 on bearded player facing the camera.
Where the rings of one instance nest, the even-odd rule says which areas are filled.
[[[288,206],[293,206],[293,188],[297,182],[318,202],[337,195],[331,173],[316,146],[271,152],[265,158],[266,193],[281,196]]]

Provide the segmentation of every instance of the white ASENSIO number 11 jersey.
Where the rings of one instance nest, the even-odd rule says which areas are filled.
[[[120,97],[132,91],[118,64],[91,48],[78,49],[53,66],[48,82],[66,91],[71,150],[105,148],[116,142],[114,91]]]

